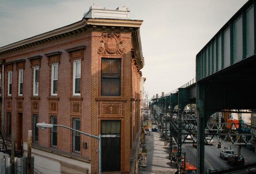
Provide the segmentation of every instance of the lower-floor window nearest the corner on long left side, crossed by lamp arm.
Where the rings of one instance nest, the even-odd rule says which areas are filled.
[[[73,129],[80,130],[80,119],[73,118]],[[80,153],[80,133],[73,131],[73,152]]]

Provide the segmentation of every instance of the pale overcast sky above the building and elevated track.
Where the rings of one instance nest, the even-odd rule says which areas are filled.
[[[126,6],[140,29],[145,91],[173,91],[196,76],[196,54],[247,0],[0,0],[0,47],[69,25],[92,4]]]

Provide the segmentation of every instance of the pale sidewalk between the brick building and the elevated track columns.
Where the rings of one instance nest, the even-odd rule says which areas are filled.
[[[159,138],[157,132],[147,131],[147,167],[140,167],[140,174],[174,174],[177,169],[169,167],[170,160],[168,145],[164,146],[164,141]]]

